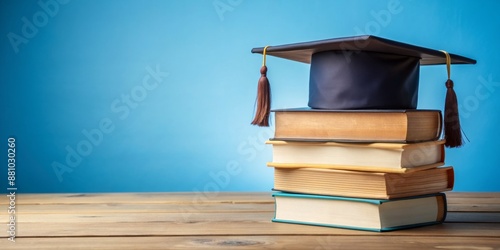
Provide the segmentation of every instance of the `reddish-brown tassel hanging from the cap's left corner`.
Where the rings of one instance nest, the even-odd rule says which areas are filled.
[[[269,127],[269,114],[271,113],[271,86],[266,76],[267,67],[263,65],[260,68],[260,79],[257,88],[257,100],[255,118],[252,125]]]

